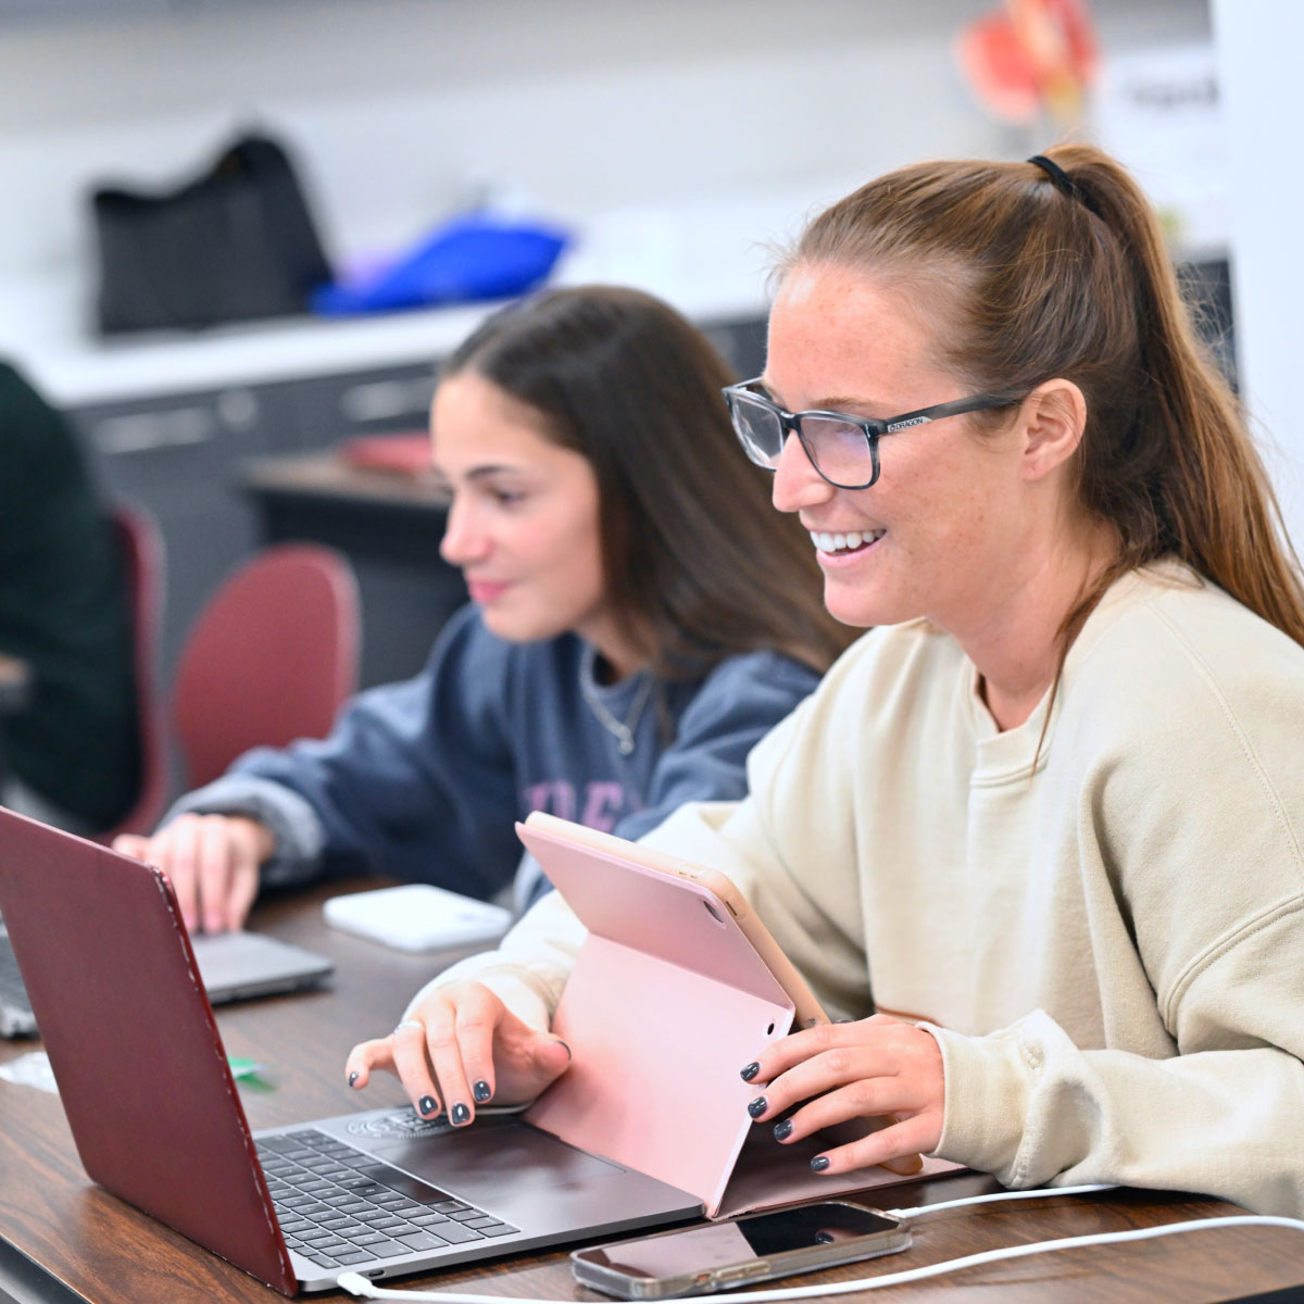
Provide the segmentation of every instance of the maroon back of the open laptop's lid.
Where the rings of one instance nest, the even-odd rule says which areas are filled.
[[[163,875],[0,810],[0,911],[90,1178],[292,1295],[289,1254]]]

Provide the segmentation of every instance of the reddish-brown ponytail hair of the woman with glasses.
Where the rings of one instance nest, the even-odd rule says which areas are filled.
[[[1115,579],[1164,556],[1304,644],[1281,509],[1154,209],[1098,149],[1046,156],[1068,186],[1033,163],[922,163],[879,177],[816,216],[780,274],[848,266],[922,299],[943,365],[975,393],[1024,394],[1055,377],[1082,390],[1074,492],[1118,549],[1065,617],[1061,657]]]

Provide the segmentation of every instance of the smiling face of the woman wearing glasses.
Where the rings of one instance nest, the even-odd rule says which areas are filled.
[[[938,356],[927,319],[901,293],[862,273],[797,267],[771,313],[764,385],[792,412],[893,417],[969,395]],[[840,621],[927,617],[962,638],[1021,570],[1029,505],[1017,441],[979,437],[971,417],[955,416],[883,436],[879,456],[875,485],[835,489],[789,438],[775,506],[811,531],[824,601]]]

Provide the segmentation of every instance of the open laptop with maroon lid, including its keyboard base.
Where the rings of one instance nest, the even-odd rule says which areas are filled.
[[[0,910],[86,1172],[283,1294],[333,1288],[343,1271],[393,1277],[703,1209],[515,1115],[454,1129],[378,1110],[250,1144],[156,870],[0,810]],[[76,960],[59,958],[52,936]]]

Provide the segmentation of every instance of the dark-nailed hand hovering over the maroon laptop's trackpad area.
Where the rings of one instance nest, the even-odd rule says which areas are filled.
[[[344,1064],[361,1090],[373,1069],[394,1073],[422,1119],[447,1111],[460,1127],[477,1104],[524,1104],[570,1067],[570,1047],[519,1020],[484,983],[425,996],[387,1037],[359,1042]]]

